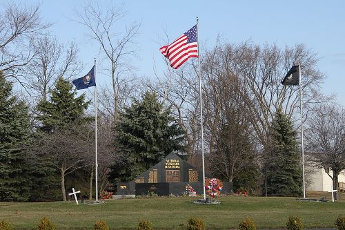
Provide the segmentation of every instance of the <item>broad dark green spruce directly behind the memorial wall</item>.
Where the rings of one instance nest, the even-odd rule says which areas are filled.
[[[110,180],[129,181],[161,161],[172,151],[184,151],[184,130],[164,109],[155,93],[120,113],[116,146],[123,161],[112,166]]]

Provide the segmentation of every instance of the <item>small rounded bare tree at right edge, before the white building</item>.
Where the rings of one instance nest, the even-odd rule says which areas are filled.
[[[345,109],[334,104],[319,106],[308,119],[305,136],[311,164],[324,169],[333,189],[338,189],[338,175],[345,169]]]

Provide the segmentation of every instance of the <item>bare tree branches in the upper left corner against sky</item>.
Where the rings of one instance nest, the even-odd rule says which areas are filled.
[[[32,43],[41,35],[49,23],[42,23],[39,6],[28,7],[23,4],[9,3],[0,14],[0,68],[7,77],[20,79],[23,66],[37,54]]]

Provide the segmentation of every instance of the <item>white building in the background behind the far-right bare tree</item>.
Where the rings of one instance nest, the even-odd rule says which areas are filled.
[[[332,189],[332,179],[324,171],[324,169],[306,169],[306,178],[308,180],[306,184],[307,191],[328,191]],[[331,174],[332,175],[332,174]],[[339,188],[338,191],[345,191],[345,171],[339,174],[338,178]]]

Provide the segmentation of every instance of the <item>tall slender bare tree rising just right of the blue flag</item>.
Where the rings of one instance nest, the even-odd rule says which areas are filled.
[[[112,97],[114,98],[114,120],[117,121],[119,105],[119,76],[133,69],[131,57],[135,55],[134,39],[139,32],[140,23],[133,23],[121,31],[120,19],[124,17],[123,6],[100,6],[88,3],[77,12],[77,22],[88,28],[88,36],[99,44],[106,60],[105,69],[112,78]]]

